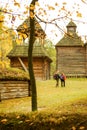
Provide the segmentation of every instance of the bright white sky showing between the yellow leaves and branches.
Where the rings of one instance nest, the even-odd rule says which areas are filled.
[[[23,14],[23,11],[25,10],[24,4],[29,5],[31,0],[16,0],[17,2],[21,3],[21,8],[15,7],[13,5],[13,0],[0,0],[0,7],[5,7],[6,3],[9,4],[9,8],[13,10],[13,14],[20,14],[21,19],[26,19],[27,17]],[[87,0],[84,0],[85,2]],[[69,18],[72,18],[74,22],[77,25],[77,32],[78,35],[83,36],[87,35],[87,4],[83,3],[81,0],[39,0],[41,8],[44,8],[47,10],[46,4],[49,6],[55,6],[55,3],[57,3],[57,6],[55,6],[55,10],[49,11],[47,13],[47,18],[48,19],[54,19],[58,17],[63,17],[65,16],[66,12],[62,11],[59,12],[59,9],[63,6],[63,3],[67,3],[65,8],[72,12],[72,15]],[[81,13],[82,17],[77,17],[76,12]],[[60,16],[58,16],[60,14]],[[39,16],[40,17],[40,16]],[[45,19],[45,17],[44,17]],[[58,26],[66,31],[66,25],[70,19],[60,19],[57,21]],[[20,21],[18,18],[16,19],[16,22],[14,23],[15,26],[18,26],[21,24],[22,21]],[[11,25],[11,23],[10,23]],[[56,44],[64,35],[64,33],[57,27],[53,25],[47,25],[45,26],[44,24],[41,24],[42,28],[46,31],[48,38]],[[57,36],[56,36],[56,35]]]

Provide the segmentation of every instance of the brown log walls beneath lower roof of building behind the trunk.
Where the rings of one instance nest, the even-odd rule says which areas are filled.
[[[27,58],[21,58],[24,65],[28,69],[28,61]],[[22,65],[20,64],[18,58],[12,58],[11,59],[11,67],[23,69]],[[34,74],[36,79],[41,80],[47,80],[50,79],[50,63],[49,61],[44,58],[33,58],[33,68],[34,68]]]

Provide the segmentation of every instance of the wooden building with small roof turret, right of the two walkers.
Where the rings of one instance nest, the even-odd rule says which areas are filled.
[[[55,45],[56,69],[66,76],[87,77],[87,43],[76,33],[76,24],[70,21],[67,34]]]

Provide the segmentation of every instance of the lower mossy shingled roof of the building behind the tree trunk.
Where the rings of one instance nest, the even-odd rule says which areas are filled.
[[[7,55],[7,57],[28,57],[28,45],[17,45]],[[45,48],[40,43],[34,43],[33,57],[44,57],[52,62]]]

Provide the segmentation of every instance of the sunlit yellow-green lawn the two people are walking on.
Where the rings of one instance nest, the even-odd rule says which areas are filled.
[[[55,80],[37,81],[38,111],[87,114],[87,79],[66,80],[66,87],[55,87]],[[31,97],[3,100],[0,113],[28,113]]]

